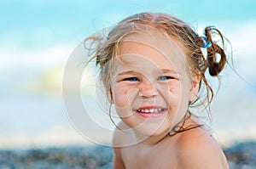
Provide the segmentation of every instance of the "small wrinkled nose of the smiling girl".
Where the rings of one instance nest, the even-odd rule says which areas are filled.
[[[141,82],[139,85],[139,96],[143,99],[154,98],[157,96],[157,90],[152,82]]]

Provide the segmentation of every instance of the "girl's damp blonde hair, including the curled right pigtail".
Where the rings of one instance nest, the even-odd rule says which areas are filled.
[[[104,37],[86,38],[85,41],[93,40],[98,42],[92,59],[96,58],[96,65],[100,65],[102,82],[106,90],[112,94],[110,87],[113,69],[112,60],[114,57],[119,56],[121,40],[131,32],[145,31],[148,26],[157,31],[165,32],[168,36],[183,44],[185,50],[183,52],[186,56],[191,75],[200,76],[201,82],[204,82],[206,86],[207,94],[205,99],[207,99],[207,106],[209,106],[212,102],[213,90],[207,82],[205,72],[208,69],[211,76],[218,76],[221,70],[224,69],[224,65],[227,62],[226,54],[224,53],[224,37],[222,33],[213,26],[207,26],[205,28],[204,34],[207,37],[205,39],[212,44],[207,48],[207,56],[205,59],[204,54],[201,52],[201,48],[204,45],[204,38],[196,34],[195,31],[182,20],[178,20],[169,14],[148,12],[134,14],[127,17],[125,20],[121,20],[118,25],[115,25],[105,39]],[[217,42],[212,40],[212,36],[219,37],[222,48]],[[217,54],[220,55],[219,60],[217,60]],[[190,104],[194,104],[195,102]],[[201,101],[201,103],[202,102],[203,101]]]

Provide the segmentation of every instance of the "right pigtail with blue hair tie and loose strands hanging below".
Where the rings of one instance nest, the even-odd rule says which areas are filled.
[[[214,26],[207,26],[204,30],[204,37],[195,34],[195,49],[193,53],[193,63],[195,70],[199,70],[201,82],[204,82],[207,88],[207,106],[210,111],[210,104],[213,99],[213,90],[205,76],[208,70],[210,76],[219,76],[227,63],[227,57],[224,49],[224,36]],[[214,38],[214,40],[213,40]],[[219,41],[215,39],[218,38]],[[203,54],[201,48],[206,49],[207,54]],[[201,83],[200,83],[201,88]],[[196,100],[195,100],[196,101]],[[192,104],[194,104],[193,102]]]

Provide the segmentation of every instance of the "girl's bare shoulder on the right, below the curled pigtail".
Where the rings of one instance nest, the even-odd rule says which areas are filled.
[[[180,168],[229,168],[223,150],[203,127],[183,132],[177,145]]]

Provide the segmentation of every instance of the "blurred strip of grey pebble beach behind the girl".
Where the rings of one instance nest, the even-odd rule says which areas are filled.
[[[256,142],[235,144],[224,149],[230,169],[256,168]],[[2,149],[0,168],[3,169],[110,169],[113,152],[110,147],[83,146],[44,149]]]

